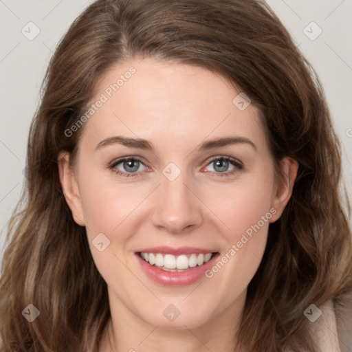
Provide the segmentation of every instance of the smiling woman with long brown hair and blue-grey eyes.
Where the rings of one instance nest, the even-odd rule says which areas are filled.
[[[30,129],[2,350],[343,351],[338,145],[265,3],[96,1]]]

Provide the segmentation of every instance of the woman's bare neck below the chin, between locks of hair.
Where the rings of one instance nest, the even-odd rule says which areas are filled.
[[[162,321],[151,325],[123,304],[115,304],[100,352],[240,352],[235,345],[244,303],[245,292],[202,325],[193,327],[184,322],[175,329],[164,327]]]

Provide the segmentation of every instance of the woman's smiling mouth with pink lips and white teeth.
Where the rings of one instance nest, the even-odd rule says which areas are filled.
[[[148,248],[135,252],[142,271],[162,286],[186,286],[199,281],[219,252],[198,248]]]

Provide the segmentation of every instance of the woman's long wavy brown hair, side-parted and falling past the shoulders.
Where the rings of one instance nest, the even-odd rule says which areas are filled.
[[[248,287],[239,345],[253,352],[316,351],[303,311],[352,291],[351,231],[339,194],[340,151],[319,80],[260,0],[98,0],[74,21],[47,69],[30,128],[22,202],[10,219],[0,282],[3,352],[98,351],[110,319],[107,285],[58,177],[74,156],[79,120],[98,78],[135,56],[217,72],[261,110],[276,163],[299,163],[293,195],[269,228]],[[21,311],[33,304],[39,318]]]

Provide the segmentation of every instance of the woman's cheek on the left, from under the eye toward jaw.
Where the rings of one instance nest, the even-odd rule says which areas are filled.
[[[131,272],[126,269],[124,254],[129,252],[129,239],[136,232],[138,206],[148,195],[148,189],[132,184],[117,184],[104,173],[85,173],[80,179],[87,237],[98,271],[107,283],[125,289],[131,283]],[[103,234],[103,236],[102,236]],[[99,245],[98,243],[103,243]],[[100,251],[102,250],[102,251]],[[129,294],[126,293],[126,296]]]

